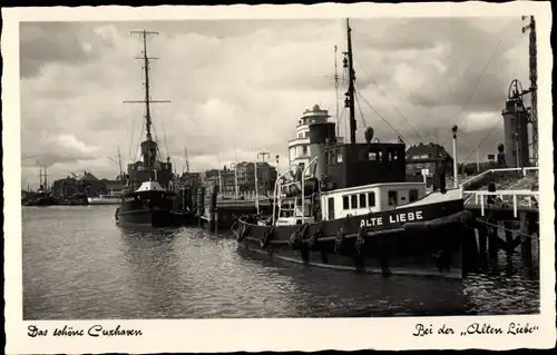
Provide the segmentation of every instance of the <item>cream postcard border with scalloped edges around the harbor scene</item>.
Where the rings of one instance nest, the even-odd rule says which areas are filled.
[[[109,11],[108,11],[109,10]],[[184,19],[276,19],[276,18],[370,18],[370,17],[508,17],[535,14],[538,31],[538,116],[540,208],[540,315],[450,316],[331,319],[196,319],[196,321],[22,321],[19,22],[20,21],[118,21]],[[2,9],[3,57],[3,179],[4,179],[4,300],[7,353],[162,353],[234,351],[319,349],[418,349],[418,348],[544,348],[555,345],[555,230],[553,176],[553,52],[549,42],[549,2],[510,3],[404,3],[404,4],[314,4],[227,7],[81,7]],[[525,335],[466,335],[472,323],[507,329],[509,323],[538,328]],[[412,336],[416,324],[432,325],[433,334]],[[442,325],[456,335],[441,335]],[[87,329],[95,325],[140,329],[137,337],[35,337],[28,326],[53,329],[63,325]]]

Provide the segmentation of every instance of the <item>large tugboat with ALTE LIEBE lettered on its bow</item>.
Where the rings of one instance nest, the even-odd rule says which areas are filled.
[[[310,162],[277,178],[271,221],[238,218],[238,248],[306,266],[461,279],[475,219],[460,189],[447,189],[442,179],[440,190],[427,194],[424,183],[405,181],[405,145],[372,142],[371,127],[365,142],[355,142],[346,24],[350,142],[338,141],[334,122],[310,121]]]

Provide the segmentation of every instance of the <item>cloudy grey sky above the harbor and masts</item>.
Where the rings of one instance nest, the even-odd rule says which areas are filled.
[[[528,86],[528,38],[520,18],[352,20],[359,89],[358,140],[375,136],[408,144],[446,142],[459,126],[460,158],[473,160],[502,140],[500,111],[512,78]],[[176,170],[187,148],[193,170],[281,156],[300,115],[315,103],[335,112],[345,20],[204,20],[179,22],[22,22],[20,27],[22,186],[91,170],[114,178],[120,149],[131,161],[144,108],[141,41],[153,62],[156,137]],[[341,93],[342,100],[342,93]],[[374,110],[373,110],[373,109]],[[340,102],[341,126],[346,112]],[[375,112],[377,111],[377,112]],[[363,118],[362,118],[363,116]],[[344,129],[341,129],[344,135]],[[144,132],[145,135],[145,132]],[[344,135],[345,136],[345,135]]]

